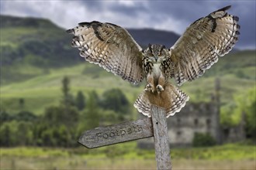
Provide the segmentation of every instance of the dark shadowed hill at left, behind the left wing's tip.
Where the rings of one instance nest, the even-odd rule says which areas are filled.
[[[71,36],[49,20],[0,17],[2,84],[27,80],[81,60],[73,57],[77,53],[70,46]]]

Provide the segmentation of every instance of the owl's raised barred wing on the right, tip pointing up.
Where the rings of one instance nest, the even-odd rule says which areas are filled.
[[[171,47],[171,77],[179,86],[202,76],[218,61],[218,56],[229,53],[237,42],[238,17],[228,14],[229,8],[220,8],[193,22]]]

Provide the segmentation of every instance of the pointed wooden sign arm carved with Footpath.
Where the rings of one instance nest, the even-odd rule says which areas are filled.
[[[152,121],[147,117],[137,121],[127,121],[85,131],[78,142],[86,148],[98,148],[124,141],[152,137],[152,128]]]

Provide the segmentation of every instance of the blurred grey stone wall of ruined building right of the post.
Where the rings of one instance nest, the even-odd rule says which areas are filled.
[[[171,145],[191,145],[196,132],[209,133],[217,138],[219,121],[215,105],[211,103],[187,104],[174,117],[168,118]]]

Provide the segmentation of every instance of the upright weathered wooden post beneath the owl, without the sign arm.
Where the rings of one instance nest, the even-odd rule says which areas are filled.
[[[153,106],[151,110],[157,170],[171,170],[171,157],[168,143],[166,111],[156,106]]]

